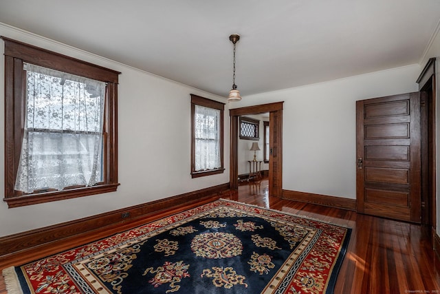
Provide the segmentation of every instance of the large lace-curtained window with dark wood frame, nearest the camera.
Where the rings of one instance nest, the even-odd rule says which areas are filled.
[[[120,73],[1,38],[8,206],[115,191]]]

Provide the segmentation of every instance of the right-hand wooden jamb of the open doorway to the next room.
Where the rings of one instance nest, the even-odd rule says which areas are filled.
[[[270,195],[281,197],[283,196],[283,112],[276,111],[270,112],[269,116],[269,187]]]

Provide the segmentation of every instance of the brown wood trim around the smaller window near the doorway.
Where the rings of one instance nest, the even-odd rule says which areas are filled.
[[[211,176],[214,174],[223,174],[225,171],[223,164],[223,112],[225,110],[225,103],[221,103],[218,101],[213,101],[208,98],[204,98],[202,96],[198,96],[195,94],[190,94],[191,96],[191,178],[200,178],[202,176]],[[195,105],[200,105],[204,107],[210,107],[213,109],[220,110],[220,168],[219,169],[210,169],[207,171],[196,171],[195,170]]]

